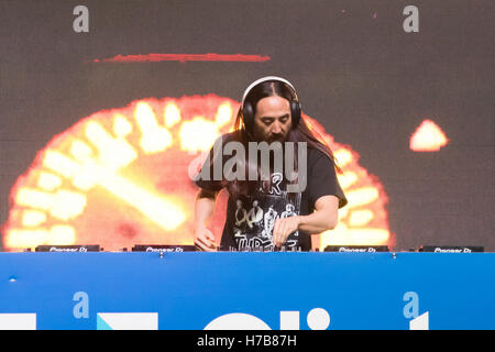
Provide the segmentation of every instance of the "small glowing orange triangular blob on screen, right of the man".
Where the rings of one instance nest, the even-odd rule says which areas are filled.
[[[409,148],[413,152],[438,152],[449,140],[443,131],[431,120],[425,120],[413,133]]]

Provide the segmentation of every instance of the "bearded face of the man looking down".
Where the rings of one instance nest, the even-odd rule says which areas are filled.
[[[272,143],[285,142],[292,128],[290,105],[288,100],[272,96],[261,99],[254,116],[254,138]]]

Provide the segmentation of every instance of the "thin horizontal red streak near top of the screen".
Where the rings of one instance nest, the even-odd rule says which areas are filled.
[[[254,62],[270,61],[270,56],[243,54],[147,54],[147,55],[117,55],[111,58],[94,59],[94,63],[157,63],[157,62]]]

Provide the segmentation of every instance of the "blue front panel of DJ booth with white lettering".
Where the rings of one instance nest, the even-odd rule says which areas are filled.
[[[0,329],[494,329],[494,253],[0,253]]]

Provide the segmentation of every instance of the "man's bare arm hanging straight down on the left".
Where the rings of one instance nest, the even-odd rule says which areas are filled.
[[[208,252],[216,251],[215,235],[207,228],[213,216],[218,191],[201,188],[195,205],[195,245]]]

